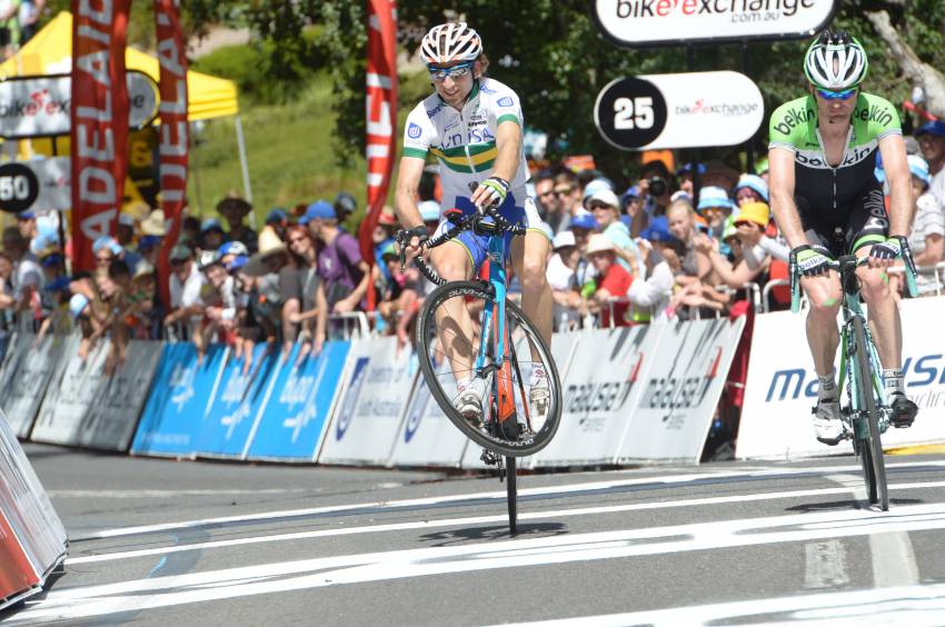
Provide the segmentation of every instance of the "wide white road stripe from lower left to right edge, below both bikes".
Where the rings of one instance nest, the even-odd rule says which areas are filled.
[[[189,603],[408,577],[943,528],[945,504],[932,504],[901,507],[895,516],[867,510],[813,512],[314,558],[61,590],[53,588],[46,599],[28,604],[24,611],[10,617],[9,625],[67,618],[76,620]],[[876,593],[869,590],[868,594],[876,598]],[[809,610],[815,606],[803,607]],[[769,606],[765,608],[769,610]],[[705,615],[699,616],[705,620]],[[689,615],[690,623],[692,617]]]

